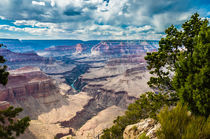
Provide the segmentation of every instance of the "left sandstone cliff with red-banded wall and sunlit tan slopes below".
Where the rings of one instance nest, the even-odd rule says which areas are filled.
[[[0,86],[0,109],[10,103],[23,108],[20,117],[30,117],[29,130],[20,139],[52,139],[57,134],[70,134],[69,127],[59,123],[82,111],[91,97],[82,92],[67,95],[70,86],[58,86],[39,68],[24,67],[9,72],[8,84]]]

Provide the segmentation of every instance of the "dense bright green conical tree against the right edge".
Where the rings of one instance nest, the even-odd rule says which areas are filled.
[[[173,84],[190,110],[206,117],[210,114],[210,27],[204,24],[194,39],[192,56],[181,53]],[[190,54],[190,55],[191,55]]]

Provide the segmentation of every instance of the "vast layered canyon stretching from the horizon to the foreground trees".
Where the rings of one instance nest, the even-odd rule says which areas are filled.
[[[153,91],[144,56],[157,50],[157,41],[54,41],[43,49],[34,41],[32,51],[22,53],[17,40],[3,42],[9,42],[0,55],[10,76],[0,86],[0,108],[24,109],[20,117],[31,118],[27,138],[97,138],[130,103]]]

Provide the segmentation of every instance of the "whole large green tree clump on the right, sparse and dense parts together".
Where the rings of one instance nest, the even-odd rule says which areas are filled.
[[[195,114],[210,114],[209,26],[195,13],[178,30],[166,29],[157,52],[145,59],[151,77],[150,87],[187,103]]]

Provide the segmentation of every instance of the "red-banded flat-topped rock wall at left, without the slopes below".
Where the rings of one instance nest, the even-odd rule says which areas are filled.
[[[7,85],[0,87],[0,101],[23,101],[28,96],[47,97],[57,92],[53,80],[39,68],[24,67],[9,73]]]

